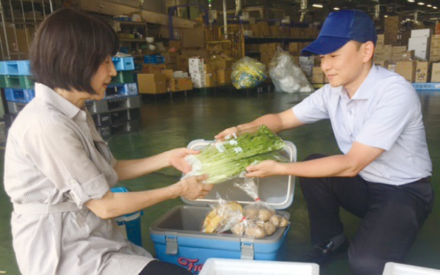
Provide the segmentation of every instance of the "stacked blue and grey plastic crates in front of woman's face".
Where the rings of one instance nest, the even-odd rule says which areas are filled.
[[[133,57],[114,57],[118,75],[112,78],[103,100],[87,101],[98,132],[106,138],[113,133],[139,129],[140,97],[135,80]]]

